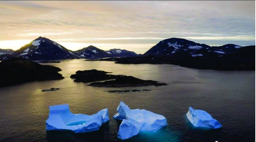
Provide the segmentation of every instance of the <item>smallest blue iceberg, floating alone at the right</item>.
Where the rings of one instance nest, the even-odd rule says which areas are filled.
[[[212,116],[204,110],[196,109],[189,107],[187,112],[187,119],[193,124],[194,127],[204,127],[211,129],[218,129],[222,125]]]

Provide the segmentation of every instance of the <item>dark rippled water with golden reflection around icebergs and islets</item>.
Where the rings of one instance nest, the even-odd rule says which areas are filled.
[[[120,122],[112,117],[120,101],[164,115],[168,125],[159,131],[139,133],[125,141],[161,142],[251,142],[255,141],[255,71],[216,71],[174,65],[121,65],[105,61],[71,60],[50,63],[60,67],[63,80],[29,82],[0,88],[0,141],[121,141],[117,139]],[[77,70],[98,69],[113,74],[158,80],[168,86],[134,87],[149,92],[107,93],[113,88],[86,86],[69,76]],[[52,92],[42,89],[60,88]],[[116,88],[114,88],[116,89]],[[121,89],[121,88],[120,88]],[[94,114],[108,108],[110,122],[99,131],[73,134],[45,130],[48,107],[68,103],[72,113]],[[188,107],[203,109],[223,128],[194,129],[186,119]]]

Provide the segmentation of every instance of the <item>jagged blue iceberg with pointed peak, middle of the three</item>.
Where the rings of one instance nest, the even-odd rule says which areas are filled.
[[[124,102],[117,107],[114,119],[122,120],[117,137],[124,140],[141,131],[155,132],[166,126],[166,118],[145,109],[130,109]]]

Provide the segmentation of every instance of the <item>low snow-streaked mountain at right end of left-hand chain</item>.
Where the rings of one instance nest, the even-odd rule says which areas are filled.
[[[133,57],[133,56],[138,56],[133,51],[128,51],[124,49],[110,49],[106,51],[111,57]]]

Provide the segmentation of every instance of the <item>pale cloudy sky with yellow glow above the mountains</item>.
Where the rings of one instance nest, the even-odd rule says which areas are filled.
[[[39,36],[70,50],[136,53],[168,38],[255,45],[255,1],[0,1],[0,19],[2,49]]]

